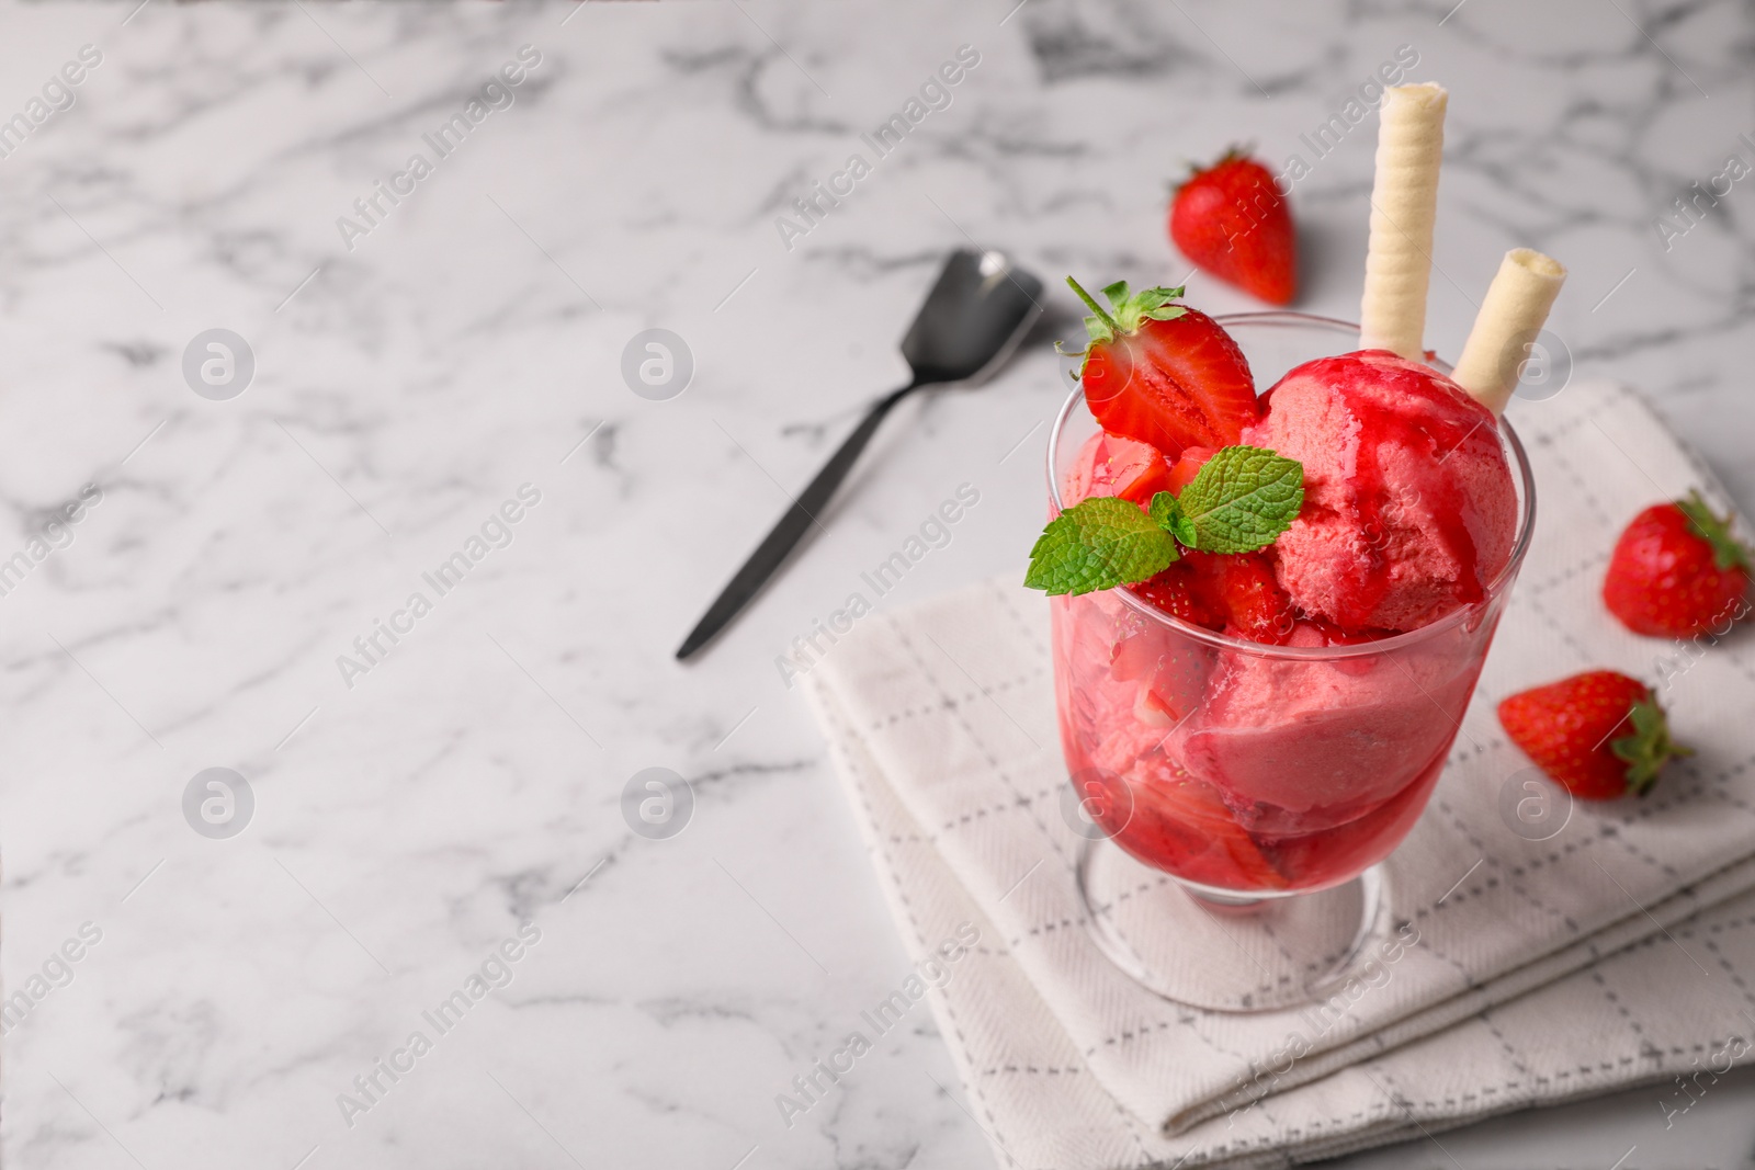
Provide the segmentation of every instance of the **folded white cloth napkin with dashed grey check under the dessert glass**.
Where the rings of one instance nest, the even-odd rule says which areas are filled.
[[[1444,777],[1386,863],[1416,942],[1337,1007],[1179,1007],[1095,947],[1039,596],[1007,581],[878,614],[807,674],[904,940],[925,958],[979,931],[934,1009],[1004,1163],[1283,1165],[1751,1051],[1755,640],[1639,639],[1599,600],[1641,507],[1723,493],[1618,386],[1574,384],[1515,419],[1534,546]],[[1590,667],[1658,686],[1695,754],[1650,798],[1580,803],[1529,840],[1502,812],[1529,761],[1494,705]]]

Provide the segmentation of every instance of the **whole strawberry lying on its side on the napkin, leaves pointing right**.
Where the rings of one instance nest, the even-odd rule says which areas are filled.
[[[1587,670],[1499,703],[1499,726],[1565,791],[1583,800],[1644,796],[1673,756],[1669,721],[1639,679]]]

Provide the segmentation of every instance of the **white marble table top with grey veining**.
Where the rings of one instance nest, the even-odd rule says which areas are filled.
[[[900,381],[946,249],[1174,281],[1183,160],[1300,149],[1399,46],[1453,93],[1430,344],[1506,247],[1562,256],[1578,368],[1755,505],[1755,179],[1667,251],[1655,226],[1755,158],[1748,5],[1014,2],[0,9],[28,130],[0,137],[9,1165],[990,1165],[925,1017],[827,1109],[774,1109],[904,967],[774,658],[958,482],[979,507],[883,603],[1021,565],[1055,358],[904,409],[762,603],[670,653]],[[965,44],[949,105],[783,233]],[[1371,140],[1297,184],[1302,307],[1353,312]],[[242,395],[184,379],[212,328]],[[693,354],[681,396],[623,382],[648,328]],[[184,816],[216,767],[254,800],[233,837]],[[651,767],[693,786],[670,838],[621,812]],[[1665,1131],[1632,1093],[1353,1165],[1743,1166],[1751,1102]]]

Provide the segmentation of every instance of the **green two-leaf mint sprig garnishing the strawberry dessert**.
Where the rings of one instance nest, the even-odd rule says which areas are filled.
[[[1030,549],[1023,584],[1093,593],[1164,572],[1183,547],[1251,553],[1290,528],[1302,505],[1302,463],[1262,447],[1221,447],[1181,496],[1160,491],[1144,512],[1118,496],[1090,496],[1060,512]]]

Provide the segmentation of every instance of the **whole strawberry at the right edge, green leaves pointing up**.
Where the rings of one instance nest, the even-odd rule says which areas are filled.
[[[1748,546],[1730,535],[1699,491],[1657,503],[1634,517],[1615,542],[1602,579],[1602,603],[1634,633],[1688,639],[1723,633],[1748,612]]]

